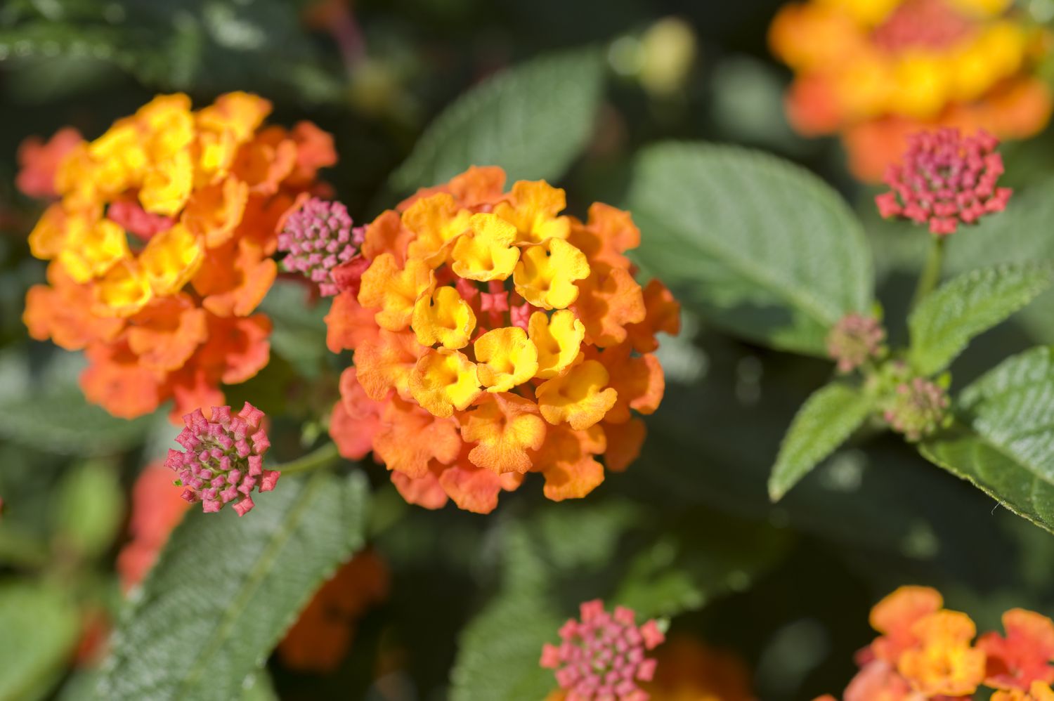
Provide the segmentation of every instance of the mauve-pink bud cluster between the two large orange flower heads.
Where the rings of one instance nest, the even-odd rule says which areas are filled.
[[[317,283],[324,296],[336,294],[333,269],[355,257],[366,237],[364,227],[351,225],[343,203],[311,197],[286,218],[278,234],[278,250],[287,254],[282,267]]]

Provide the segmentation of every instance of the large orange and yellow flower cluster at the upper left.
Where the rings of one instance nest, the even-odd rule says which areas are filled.
[[[222,405],[220,384],[267,365],[271,323],[253,311],[275,278],[276,227],[336,161],[328,134],[264,126],[270,111],[247,93],[196,112],[163,95],[63,145],[59,199],[30,234],[48,284],[30,290],[24,320],[35,338],[85,349],[84,394],[114,415],[169,397],[176,417]],[[35,174],[37,192],[46,179]]]

